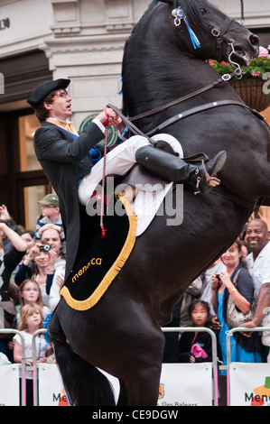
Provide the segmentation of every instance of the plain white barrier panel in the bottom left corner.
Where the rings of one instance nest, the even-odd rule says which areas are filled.
[[[20,406],[19,364],[1,365],[0,382],[0,406]]]

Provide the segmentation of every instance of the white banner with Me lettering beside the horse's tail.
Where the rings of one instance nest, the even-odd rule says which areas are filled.
[[[39,364],[39,406],[70,406],[56,364]]]

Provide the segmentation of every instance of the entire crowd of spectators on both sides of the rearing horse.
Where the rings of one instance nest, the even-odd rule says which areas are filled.
[[[42,215],[35,231],[18,226],[7,208],[0,207],[0,327],[21,328],[27,334],[33,334],[33,328],[42,327],[42,322],[50,319],[60,300],[66,266],[58,197],[47,195],[39,203]],[[248,331],[265,325],[263,320],[270,310],[269,291],[269,233],[265,221],[252,218],[236,242],[191,282],[175,305],[169,327],[194,327],[194,331],[164,333],[163,363],[211,361],[209,333],[196,332],[196,327],[210,327],[217,336],[219,361],[226,365],[229,297],[243,314],[256,301],[255,313],[244,324],[247,332],[234,334],[232,361],[270,362],[269,337]],[[38,318],[34,321],[33,316]],[[44,362],[53,353],[42,343],[42,357],[38,359]],[[0,334],[0,353],[2,364],[20,362],[18,337]],[[31,355],[29,347],[30,362]],[[221,378],[226,371],[219,374]]]

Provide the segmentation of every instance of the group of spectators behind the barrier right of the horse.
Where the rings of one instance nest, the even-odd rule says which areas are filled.
[[[238,312],[249,317],[241,325],[231,324],[228,298]],[[198,307],[198,302],[200,309]],[[195,305],[197,306],[195,309]],[[199,310],[197,310],[199,309]],[[249,314],[250,310],[253,313]],[[270,337],[267,332],[248,331],[252,327],[270,326],[270,243],[265,221],[250,218],[241,236],[221,257],[193,281],[175,305],[168,327],[194,327],[192,333],[164,333],[166,344],[163,363],[199,363],[211,361],[207,332],[196,327],[209,327],[216,334],[218,359],[227,364],[227,334],[233,327],[247,331],[233,334],[231,362],[270,363]],[[198,318],[200,318],[198,320]],[[200,340],[200,352],[195,347]],[[219,404],[226,404],[226,368],[219,370]]]

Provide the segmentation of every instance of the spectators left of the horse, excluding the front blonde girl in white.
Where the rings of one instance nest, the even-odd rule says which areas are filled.
[[[42,319],[48,320],[60,300],[66,260],[58,197],[47,195],[39,203],[42,214],[35,231],[18,226],[7,207],[0,207],[2,328],[20,327],[21,309],[29,303],[39,305]],[[0,352],[14,362],[12,336],[0,334]]]

